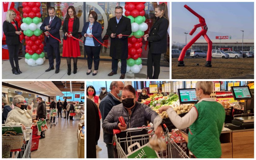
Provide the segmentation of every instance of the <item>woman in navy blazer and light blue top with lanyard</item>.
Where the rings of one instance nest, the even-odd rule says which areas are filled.
[[[100,51],[101,51],[101,43],[103,40],[101,38],[102,26],[99,22],[97,22],[98,16],[95,11],[91,11],[89,14],[89,22],[85,22],[82,30],[83,44],[87,55],[88,62],[88,71],[87,75],[92,72],[92,60],[94,61],[94,71],[92,73],[95,76],[98,73],[99,64],[100,64]],[[92,37],[92,35],[97,38]]]

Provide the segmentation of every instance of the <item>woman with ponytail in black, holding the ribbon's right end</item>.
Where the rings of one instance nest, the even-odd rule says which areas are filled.
[[[161,54],[167,51],[167,29],[169,26],[169,19],[168,9],[165,3],[155,7],[155,16],[157,17],[157,20],[150,29],[150,33],[144,35],[144,40],[149,42],[147,79],[158,79]]]

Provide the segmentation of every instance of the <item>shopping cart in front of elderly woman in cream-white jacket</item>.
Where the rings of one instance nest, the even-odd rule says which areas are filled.
[[[26,127],[26,130],[29,130],[29,132],[25,132],[26,137],[29,137],[28,142],[26,141],[27,138],[25,139],[24,136],[22,136],[22,140],[20,140],[20,137],[2,137],[2,145],[9,144],[11,146],[14,144],[18,144],[19,146],[21,146],[20,149],[10,150],[10,158],[31,158],[31,141],[33,127]]]

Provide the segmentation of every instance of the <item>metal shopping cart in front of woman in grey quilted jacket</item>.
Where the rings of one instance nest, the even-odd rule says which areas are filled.
[[[167,143],[167,149],[163,151],[158,151],[158,155],[160,158],[189,158],[186,153],[170,138],[169,131],[166,125],[164,125],[165,132],[163,137]],[[137,136],[128,136],[131,135],[132,132],[142,131],[142,130],[150,130],[153,127],[137,127],[137,128],[128,128],[124,131],[121,130],[113,130],[114,133],[114,148],[117,149],[118,158],[127,158],[127,154],[138,149],[138,147],[133,146],[130,148],[132,144],[138,142],[141,146],[147,144],[149,139],[155,134],[151,132],[149,134],[137,135]],[[125,138],[118,138],[117,134],[126,131]],[[122,148],[123,146],[123,148]],[[128,151],[129,150],[129,151]]]

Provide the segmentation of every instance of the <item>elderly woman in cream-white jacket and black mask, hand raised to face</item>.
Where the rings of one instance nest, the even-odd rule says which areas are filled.
[[[14,108],[8,113],[5,124],[10,126],[18,126],[21,125],[25,130],[25,127],[32,127],[32,107],[31,105],[27,106],[27,110],[25,109],[25,98],[21,95],[16,95],[12,97],[12,104]],[[25,131],[28,132],[29,131]],[[26,137],[29,140],[29,137]]]

